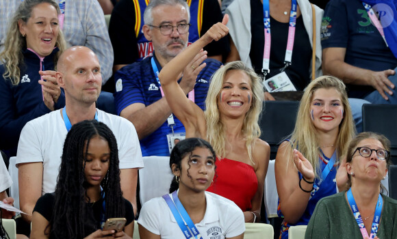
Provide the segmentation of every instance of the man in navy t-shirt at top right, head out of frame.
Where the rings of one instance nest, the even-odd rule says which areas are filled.
[[[346,83],[349,98],[397,104],[396,6],[376,3],[329,1],[322,18],[322,70]]]

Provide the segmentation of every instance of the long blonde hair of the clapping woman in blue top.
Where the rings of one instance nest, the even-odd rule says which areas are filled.
[[[320,162],[318,160],[320,145],[318,143],[317,130],[310,117],[311,100],[313,98],[313,93],[316,92],[317,89],[329,88],[334,88],[340,93],[344,107],[343,119],[339,125],[339,133],[335,142],[338,159],[344,154],[348,147],[348,143],[355,136],[355,124],[353,122],[353,115],[344,83],[334,76],[320,76],[314,81],[311,81],[300,100],[298,115],[296,115],[296,124],[290,142],[292,144],[292,149],[298,149],[299,152],[309,160],[313,166],[316,178],[320,175]],[[287,150],[288,160],[292,158],[292,149]]]

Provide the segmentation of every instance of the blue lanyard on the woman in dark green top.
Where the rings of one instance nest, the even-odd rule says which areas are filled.
[[[363,238],[368,237],[368,232],[366,230],[366,227],[364,226],[363,219],[361,219],[361,214],[359,212],[359,208],[357,207],[355,197],[353,197],[352,188],[350,188],[347,191],[346,195],[348,198],[350,208],[355,216],[357,224],[360,227],[360,231],[361,231],[361,234],[363,235]],[[383,207],[383,198],[382,198],[381,194],[379,193],[378,201],[376,202],[374,220],[372,221],[371,236],[369,237],[371,239],[374,238],[376,236],[376,234],[378,234],[378,227],[379,227],[379,221],[381,220],[382,207]]]

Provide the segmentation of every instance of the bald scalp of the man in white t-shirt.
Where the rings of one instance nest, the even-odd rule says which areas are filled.
[[[71,48],[66,49],[57,62],[57,71],[65,73],[68,70],[68,67],[75,61],[75,59],[81,57],[82,55],[92,55],[97,59],[97,55],[90,48],[86,46],[72,46]]]

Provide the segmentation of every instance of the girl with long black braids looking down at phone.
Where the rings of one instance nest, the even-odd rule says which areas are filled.
[[[125,217],[124,231],[102,231],[106,219]],[[34,208],[31,238],[131,238],[133,209],[120,189],[116,138],[96,120],[66,136],[55,193]]]

